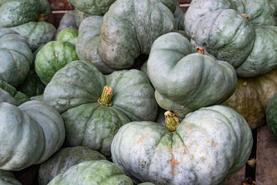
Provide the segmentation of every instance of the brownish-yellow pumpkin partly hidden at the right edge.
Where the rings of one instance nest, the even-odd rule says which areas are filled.
[[[253,78],[238,78],[235,93],[225,105],[244,116],[251,129],[265,124],[269,100],[277,92],[277,69]]]

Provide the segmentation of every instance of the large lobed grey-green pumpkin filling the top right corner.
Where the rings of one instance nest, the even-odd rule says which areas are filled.
[[[238,76],[277,67],[276,8],[267,0],[194,0],[184,24],[193,45],[230,62]]]

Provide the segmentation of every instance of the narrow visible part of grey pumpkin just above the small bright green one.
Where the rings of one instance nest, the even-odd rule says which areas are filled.
[[[57,27],[57,31],[55,33],[55,38],[57,37],[57,34],[59,34],[60,31],[64,28],[78,28],[75,22],[75,10],[68,10],[64,16],[62,16],[59,27]]]

